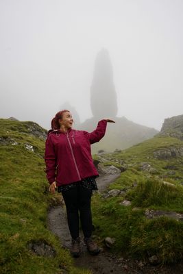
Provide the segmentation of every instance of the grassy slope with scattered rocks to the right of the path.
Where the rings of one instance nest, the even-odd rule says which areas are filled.
[[[95,155],[104,166],[113,164],[124,171],[108,188],[121,190],[119,195],[93,199],[101,242],[107,236],[115,238],[112,250],[145,260],[151,256],[161,263],[182,259],[182,148],[177,138],[156,136],[125,151]],[[130,206],[123,206],[125,200]]]

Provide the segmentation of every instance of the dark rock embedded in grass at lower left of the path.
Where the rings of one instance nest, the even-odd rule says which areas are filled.
[[[38,256],[44,256],[44,257],[55,257],[56,256],[56,250],[53,249],[50,245],[47,244],[47,242],[29,242],[28,249],[36,253]]]

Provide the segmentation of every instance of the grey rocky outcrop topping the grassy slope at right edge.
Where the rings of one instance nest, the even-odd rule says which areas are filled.
[[[171,136],[183,140],[183,115],[164,119],[160,135]]]

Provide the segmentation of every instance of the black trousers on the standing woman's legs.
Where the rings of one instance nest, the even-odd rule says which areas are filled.
[[[78,184],[78,186],[70,190],[62,191],[62,196],[66,205],[71,237],[73,239],[79,237],[80,221],[84,237],[90,237],[92,234],[92,214],[90,207],[92,190]]]

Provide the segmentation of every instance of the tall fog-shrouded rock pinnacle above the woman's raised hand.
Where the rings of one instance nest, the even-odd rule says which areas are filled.
[[[112,64],[106,49],[97,54],[90,88],[90,105],[93,116],[97,119],[117,116],[117,93],[113,82]]]

